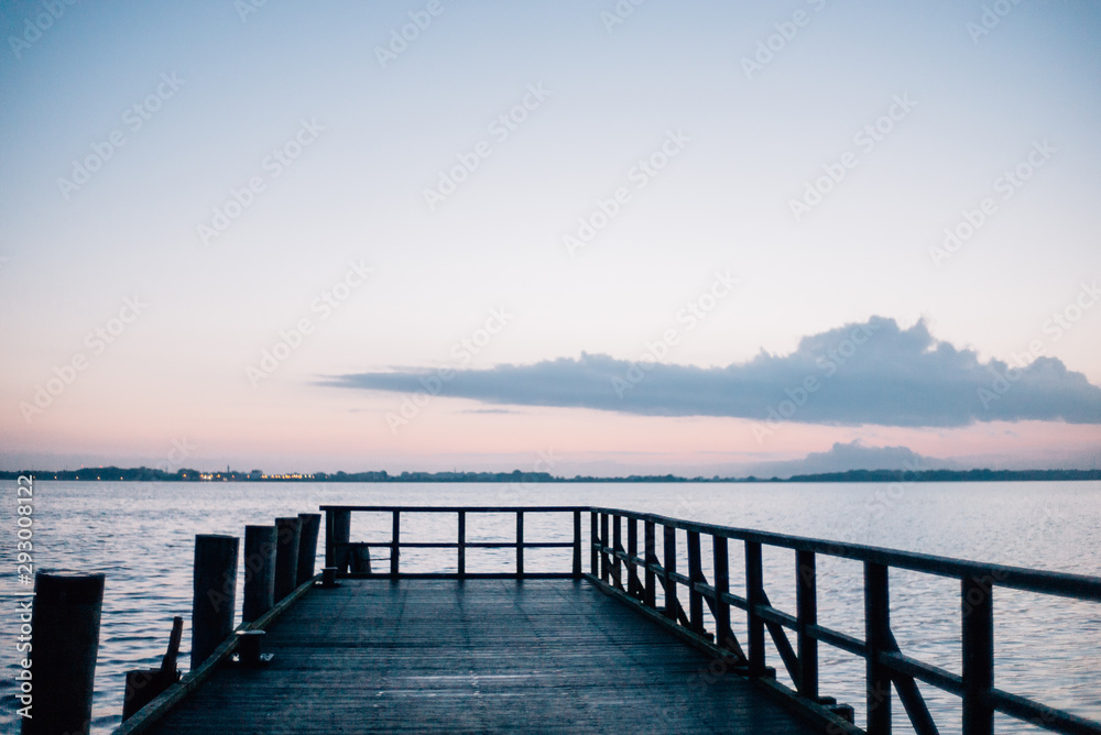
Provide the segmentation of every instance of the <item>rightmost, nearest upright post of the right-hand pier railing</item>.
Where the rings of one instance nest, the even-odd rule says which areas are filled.
[[[994,706],[994,600],[990,579],[961,582],[963,612],[963,732],[992,735]]]

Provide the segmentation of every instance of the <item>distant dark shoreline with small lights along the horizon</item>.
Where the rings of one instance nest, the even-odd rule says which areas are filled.
[[[15,480],[20,475],[32,475],[35,480],[57,482],[438,482],[438,483],[748,483],[748,482],[1053,482],[1073,480],[1101,480],[1101,470],[849,470],[847,472],[821,472],[796,474],[791,478],[683,478],[674,474],[628,475],[619,478],[592,478],[576,475],[558,478],[546,472],[402,472],[392,475],[378,472],[316,472],[313,474],[284,473],[263,474],[258,471],[200,472],[182,469],[165,472],[154,468],[81,468],[59,472],[24,470],[10,472],[0,470],[0,480]]]

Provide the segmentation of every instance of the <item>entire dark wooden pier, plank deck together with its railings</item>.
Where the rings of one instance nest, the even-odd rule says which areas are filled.
[[[231,637],[117,733],[887,735],[901,714],[926,735],[940,732],[920,688],[933,687],[959,696],[966,735],[991,735],[994,712],[1051,732],[1101,734],[1101,723],[995,688],[993,641],[996,589],[1101,602],[1099,578],[611,508],[321,511],[326,567],[336,568],[340,585],[307,581],[242,626],[268,630],[263,646],[273,660],[232,661],[238,641]],[[355,513],[385,514],[389,538],[350,538]],[[403,538],[403,519],[418,513],[450,516],[454,536]],[[514,517],[514,535],[468,538],[476,514]],[[533,538],[533,519],[544,529],[554,519],[555,540]],[[734,544],[742,547],[744,590],[730,584]],[[763,547],[794,551],[793,612],[774,607],[765,594]],[[503,549],[512,555],[511,569],[479,571],[468,559],[472,549]],[[531,557],[546,549],[557,550],[560,568],[533,566]],[[403,550],[443,561],[403,568]],[[366,551],[375,569],[349,571],[364,568],[357,560]],[[862,562],[862,638],[818,623],[821,556]],[[959,580],[961,674],[900,650],[891,632],[891,569]],[[732,611],[745,615],[744,640],[731,630]],[[766,636],[794,688],[780,683],[765,660]],[[866,731],[852,724],[851,707],[818,691],[820,645],[865,660],[866,701],[859,704]]]

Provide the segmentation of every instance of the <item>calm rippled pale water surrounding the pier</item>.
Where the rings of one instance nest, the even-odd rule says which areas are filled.
[[[15,483],[4,486],[3,614],[0,625],[0,725],[17,729],[13,673],[18,630],[12,591]],[[247,524],[317,512],[323,503],[402,505],[604,505],[742,528],[855,541],[926,553],[1101,575],[1101,483],[946,484],[155,484],[35,483],[35,558],[40,568],[107,574],[96,676],[94,732],[108,733],[122,711],[123,672],[157,666],[173,615],[190,616],[196,534],[243,535]],[[388,520],[355,516],[353,540],[389,538]],[[558,523],[560,520],[560,523]],[[513,537],[509,517],[468,520],[468,538]],[[586,524],[587,525],[587,524]],[[403,540],[454,537],[454,516],[403,517]],[[531,518],[528,540],[568,540],[569,519]],[[469,552],[470,571],[510,569],[511,553]],[[704,558],[710,550],[704,549]],[[454,569],[445,558],[403,556],[403,568]],[[527,552],[527,568],[568,569],[568,558]],[[585,557],[588,562],[588,555]],[[684,562],[682,562],[684,563]],[[731,570],[741,564],[731,545]],[[794,555],[765,551],[774,605],[794,612]],[[318,568],[320,564],[318,564]],[[820,623],[862,637],[861,567],[819,560]],[[959,586],[892,571],[892,624],[904,652],[959,672]],[[240,575],[239,575],[240,577]],[[731,580],[731,585],[741,583]],[[240,592],[238,592],[240,601]],[[239,606],[239,605],[238,605]],[[737,612],[737,611],[735,611]],[[1101,718],[1101,605],[999,592],[994,603],[996,685]],[[744,641],[744,623],[734,633]],[[183,651],[189,648],[185,626]],[[821,647],[821,691],[853,704],[862,720],[863,662]],[[186,652],[181,665],[186,666]],[[782,670],[774,650],[770,665]],[[782,676],[782,679],[784,677]],[[923,685],[941,732],[959,732],[959,701]],[[897,732],[905,714],[895,704]],[[1043,732],[999,718],[999,733]]]

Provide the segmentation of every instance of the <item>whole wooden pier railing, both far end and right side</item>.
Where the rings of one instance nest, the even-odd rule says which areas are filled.
[[[602,507],[321,506],[321,511],[326,514],[326,566],[336,567],[340,577],[585,578],[640,611],[662,619],[682,637],[718,654],[723,660],[732,661],[734,668],[745,676],[761,680],[799,702],[814,706],[825,705],[842,715],[846,714],[844,707],[832,706],[832,700],[820,696],[818,691],[819,644],[855,655],[865,661],[866,732],[870,735],[891,733],[893,695],[897,695],[918,735],[940,732],[917,682],[960,698],[966,735],[992,735],[995,712],[1053,732],[1101,735],[1101,723],[994,687],[994,590],[1001,588],[1101,602],[1101,579],[1095,577],[979,563]],[[390,514],[390,538],[353,542],[350,539],[352,513]],[[402,540],[403,516],[418,513],[454,515],[455,540]],[[466,520],[472,514],[513,515],[514,539],[468,540]],[[568,523],[565,518],[571,517],[573,527],[566,525],[558,534],[559,538],[567,537],[570,540],[531,540],[525,536],[524,520],[535,514],[566,514],[560,516],[564,517],[564,525]],[[588,573],[582,572],[582,514],[589,516]],[[702,558],[702,538],[710,541],[710,564],[705,564]],[[730,585],[729,547],[732,541],[743,546],[745,569],[744,592],[741,594]],[[389,550],[389,569],[359,573],[347,571],[351,551],[359,547]],[[795,568],[791,578],[796,593],[794,614],[775,607],[765,593],[765,547],[795,552]],[[455,571],[403,571],[402,549],[417,548],[454,549]],[[514,549],[515,571],[469,571],[466,551],[471,548]],[[528,571],[524,564],[524,550],[532,548],[571,549],[571,568],[568,571]],[[819,624],[819,557],[848,559],[863,564],[862,639]],[[678,559],[687,559],[686,570],[680,571]],[[891,569],[959,581],[962,637],[960,674],[907,656],[900,649],[891,628]],[[706,571],[710,573],[710,579]],[[687,594],[683,595],[682,592]],[[684,607],[684,597],[687,599],[687,610]],[[709,617],[705,616],[705,606],[710,612]],[[744,646],[731,628],[731,608],[738,608],[746,616],[748,635]],[[794,637],[794,644],[788,632]],[[767,666],[765,659],[766,634],[772,638],[781,663],[795,684],[795,691],[775,682],[774,669]],[[851,718],[851,710],[848,717]]]

